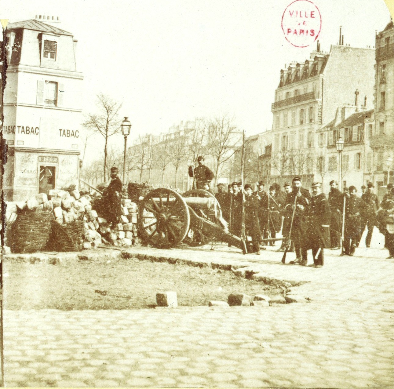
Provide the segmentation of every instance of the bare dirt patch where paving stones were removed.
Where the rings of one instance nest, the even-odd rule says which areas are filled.
[[[278,285],[246,280],[210,267],[114,259],[4,263],[4,309],[138,309],[156,306],[156,293],[176,291],[178,305],[207,305],[230,293],[282,293]]]

